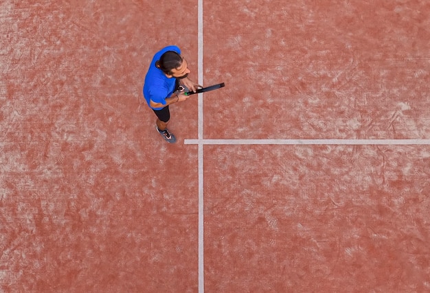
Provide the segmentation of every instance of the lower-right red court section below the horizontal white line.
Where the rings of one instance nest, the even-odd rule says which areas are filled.
[[[429,145],[205,145],[205,288],[429,290],[429,159]]]

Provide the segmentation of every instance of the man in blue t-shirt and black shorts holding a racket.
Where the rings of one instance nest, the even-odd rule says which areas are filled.
[[[163,139],[174,143],[176,138],[167,129],[170,120],[169,106],[188,99],[184,87],[196,91],[199,84],[188,78],[188,63],[177,46],[168,46],[152,58],[144,83],[144,97],[157,115],[157,130]]]

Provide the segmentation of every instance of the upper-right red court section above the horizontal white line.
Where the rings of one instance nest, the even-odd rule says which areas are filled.
[[[205,95],[206,139],[430,137],[428,1],[205,10],[205,78],[226,82]]]

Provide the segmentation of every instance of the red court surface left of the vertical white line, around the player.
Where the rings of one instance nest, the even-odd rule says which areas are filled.
[[[183,164],[198,148],[187,132],[167,145],[139,106],[161,47],[196,74],[196,7],[170,4],[1,1],[1,292],[196,292],[197,169]],[[172,131],[196,134],[196,106],[172,107]]]

